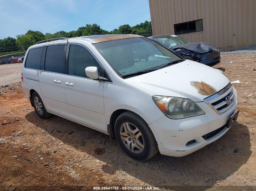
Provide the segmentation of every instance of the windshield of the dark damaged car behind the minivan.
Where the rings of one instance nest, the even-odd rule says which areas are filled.
[[[168,48],[173,48],[175,46],[179,46],[182,44],[188,44],[191,43],[189,40],[183,38],[183,37],[163,37],[163,38],[154,38],[155,40],[159,41],[163,45],[167,46]]]

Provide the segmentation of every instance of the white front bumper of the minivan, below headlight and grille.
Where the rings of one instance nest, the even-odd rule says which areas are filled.
[[[205,102],[197,102],[197,105],[204,111],[204,115],[185,119],[170,119],[163,116],[149,124],[160,153],[182,157],[203,148],[224,135],[229,129],[225,125],[237,106],[237,93],[234,92],[235,103],[224,113],[217,114]],[[209,134],[211,136],[205,136]]]

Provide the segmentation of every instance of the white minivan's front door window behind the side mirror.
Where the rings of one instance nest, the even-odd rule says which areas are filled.
[[[99,70],[99,63],[85,47],[71,44],[68,56],[68,74],[87,78],[85,68],[88,66],[96,66]]]

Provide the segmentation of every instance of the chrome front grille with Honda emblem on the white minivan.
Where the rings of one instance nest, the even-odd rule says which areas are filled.
[[[229,99],[228,99],[229,98]],[[217,93],[204,99],[216,113],[221,114],[228,110],[235,101],[234,91],[231,83]]]

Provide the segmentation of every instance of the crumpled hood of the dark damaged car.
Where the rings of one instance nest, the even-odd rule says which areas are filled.
[[[207,43],[188,43],[175,46],[172,49],[177,50],[179,48],[191,50],[195,53],[208,53],[211,49],[213,49],[213,46]]]

